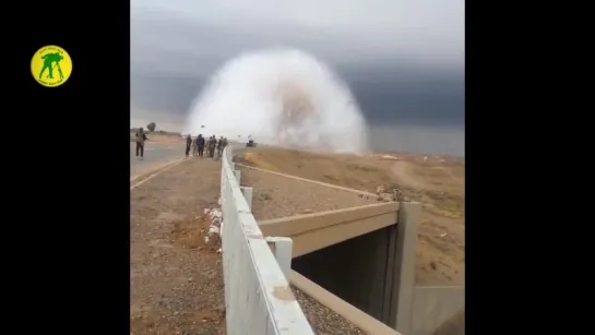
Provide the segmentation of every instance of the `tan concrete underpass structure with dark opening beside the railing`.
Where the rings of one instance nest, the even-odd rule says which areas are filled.
[[[295,272],[402,334],[430,335],[464,308],[464,287],[415,286],[419,205],[401,202],[394,208],[398,213],[392,217],[384,217],[384,211],[394,210],[390,204],[382,204],[259,224],[265,234],[293,239]],[[372,218],[394,224],[338,238],[347,236],[347,227],[357,222],[373,226]],[[331,228],[333,232],[325,236],[323,231]],[[302,236],[307,238],[300,238]],[[321,243],[321,239],[331,242]],[[310,244],[323,247],[308,248]],[[312,292],[314,299],[323,295],[320,290]],[[460,314],[464,321],[464,313]],[[455,323],[461,322],[450,322]],[[447,328],[452,332],[455,327]]]

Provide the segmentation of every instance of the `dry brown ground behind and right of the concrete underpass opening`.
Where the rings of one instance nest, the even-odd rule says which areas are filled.
[[[418,227],[417,284],[464,285],[464,159],[398,153],[386,155],[390,156],[383,157],[382,154],[366,157],[321,155],[258,147],[248,151],[241,160],[263,169],[369,192],[376,192],[379,186],[389,190],[400,189],[405,196],[423,204],[421,220]],[[278,181],[279,177],[274,175],[269,175],[270,177],[257,176],[245,171],[242,174],[248,174],[248,178],[254,178],[262,188],[259,191],[259,184],[254,186],[257,213],[259,202],[262,202],[261,198],[264,196],[262,194],[270,194],[270,200],[275,200],[281,194],[291,199],[312,200],[309,204],[297,205],[296,212],[302,211],[302,207],[314,210],[314,206],[329,205],[321,204],[323,200],[317,201],[314,194],[319,192],[318,190],[299,189],[288,192],[288,187],[284,187]],[[278,192],[275,189],[278,189]],[[259,192],[261,194],[258,194]],[[275,196],[276,193],[278,196]],[[335,198],[334,201],[337,199]],[[347,207],[354,204],[348,200],[345,204],[333,204],[332,206]],[[278,211],[286,213],[285,215],[291,212],[289,207]]]

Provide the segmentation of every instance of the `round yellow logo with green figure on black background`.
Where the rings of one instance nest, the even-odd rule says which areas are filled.
[[[31,59],[31,74],[46,87],[62,85],[71,73],[72,59],[67,50],[58,46],[45,46]]]

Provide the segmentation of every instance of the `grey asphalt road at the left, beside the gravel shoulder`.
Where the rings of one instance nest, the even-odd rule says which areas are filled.
[[[130,143],[130,177],[146,172],[185,155],[186,144],[183,143],[151,143],[144,144],[144,158],[141,160],[135,156],[136,144]]]

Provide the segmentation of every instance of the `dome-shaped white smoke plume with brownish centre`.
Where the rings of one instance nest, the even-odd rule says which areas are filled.
[[[366,120],[347,85],[295,49],[252,51],[226,62],[194,100],[188,131],[286,147],[368,151]]]

